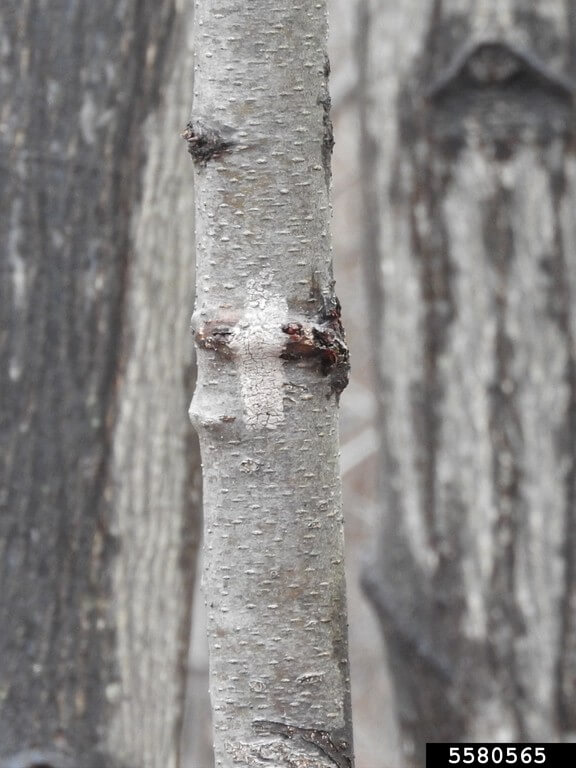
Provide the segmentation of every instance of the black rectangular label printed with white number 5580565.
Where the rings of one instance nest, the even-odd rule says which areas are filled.
[[[426,744],[426,768],[561,768],[576,744]]]

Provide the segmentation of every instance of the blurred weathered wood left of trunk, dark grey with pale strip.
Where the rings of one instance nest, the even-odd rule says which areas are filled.
[[[191,13],[3,10],[0,766],[173,767],[199,506]]]

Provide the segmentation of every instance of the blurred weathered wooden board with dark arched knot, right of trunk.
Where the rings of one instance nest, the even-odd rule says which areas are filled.
[[[383,496],[367,573],[427,740],[576,715],[574,14],[362,4]]]

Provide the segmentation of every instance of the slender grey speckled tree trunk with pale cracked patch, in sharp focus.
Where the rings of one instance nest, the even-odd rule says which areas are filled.
[[[352,766],[325,3],[196,16],[198,385],[217,766]]]

